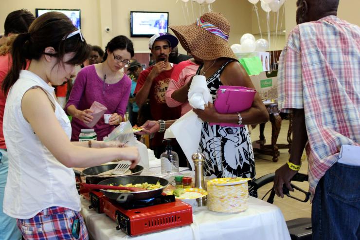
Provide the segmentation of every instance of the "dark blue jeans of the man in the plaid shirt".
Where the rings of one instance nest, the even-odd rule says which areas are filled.
[[[316,186],[313,240],[360,239],[360,166],[336,163]]]

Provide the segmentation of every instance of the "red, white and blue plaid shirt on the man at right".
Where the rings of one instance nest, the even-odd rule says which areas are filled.
[[[335,16],[297,25],[281,53],[278,103],[304,109],[309,190],[360,143],[360,28]]]

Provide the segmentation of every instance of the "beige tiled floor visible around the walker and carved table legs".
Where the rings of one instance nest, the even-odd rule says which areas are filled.
[[[277,143],[287,143],[287,133],[288,133],[288,120],[282,121],[281,131],[279,134],[279,138]],[[271,124],[268,122],[265,126],[265,138],[267,143],[270,144],[271,142]],[[255,129],[252,129],[251,133],[251,139],[252,141],[259,139],[259,127],[257,126]],[[272,157],[267,155],[262,155],[255,153],[255,167],[256,167],[256,178],[259,178],[265,174],[275,172],[277,168],[284,165],[288,161],[289,153],[288,149],[280,149],[280,157],[279,161],[277,163],[272,162]],[[307,161],[306,159],[303,160],[302,166],[300,169],[301,173],[307,174]],[[298,187],[308,190],[308,183],[296,183]],[[270,190],[272,187],[272,183],[263,186],[259,190],[259,198],[262,198],[266,192]],[[302,198],[303,194],[296,194],[296,192],[291,193],[294,196],[299,196],[299,198]],[[264,199],[266,200],[267,197]],[[302,203],[297,200],[291,199],[287,196],[285,196],[283,199],[279,197],[275,197],[274,204],[280,207],[281,211],[283,212],[285,220],[291,220],[296,218],[310,218],[311,217],[311,204],[309,202]]]

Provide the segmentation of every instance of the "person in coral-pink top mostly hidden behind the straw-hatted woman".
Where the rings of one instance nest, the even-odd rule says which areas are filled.
[[[191,85],[192,77],[198,71],[202,60],[196,57],[180,62],[174,67],[171,74],[169,87],[166,90],[166,104],[170,108],[181,106],[181,116],[190,111],[187,93]]]

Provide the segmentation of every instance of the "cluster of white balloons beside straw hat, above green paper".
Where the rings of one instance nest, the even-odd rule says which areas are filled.
[[[235,54],[269,51],[268,40],[263,38],[255,40],[255,37],[250,33],[244,34],[240,38],[240,43],[241,44],[235,43],[231,45],[231,49]]]

